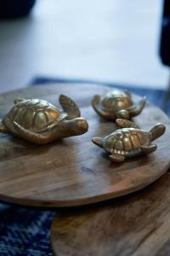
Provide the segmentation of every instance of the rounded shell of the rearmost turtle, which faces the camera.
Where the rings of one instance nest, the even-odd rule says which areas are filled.
[[[101,98],[101,108],[126,109],[133,107],[131,96],[122,90],[112,90]]]

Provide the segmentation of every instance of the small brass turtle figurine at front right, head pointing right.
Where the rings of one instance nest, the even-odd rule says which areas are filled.
[[[156,151],[156,144],[151,142],[161,137],[166,130],[164,125],[157,124],[149,132],[144,131],[127,119],[116,119],[116,124],[122,128],[113,131],[109,136],[92,139],[94,144],[104,148],[110,154],[111,160],[116,162]]]

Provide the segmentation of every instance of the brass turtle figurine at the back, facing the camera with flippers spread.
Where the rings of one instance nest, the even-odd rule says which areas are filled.
[[[143,97],[138,105],[133,102],[128,91],[111,90],[105,96],[94,96],[92,106],[100,117],[115,121],[118,118],[131,119],[141,113],[146,98]]]

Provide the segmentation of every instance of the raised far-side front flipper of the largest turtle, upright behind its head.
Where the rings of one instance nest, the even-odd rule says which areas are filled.
[[[74,102],[70,97],[65,95],[59,96],[59,103],[63,110],[68,113],[69,119],[75,119],[81,116],[80,109],[78,108],[76,102]]]

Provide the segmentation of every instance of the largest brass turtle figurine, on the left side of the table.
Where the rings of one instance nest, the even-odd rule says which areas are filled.
[[[0,132],[37,144],[87,132],[88,122],[80,117],[77,104],[64,95],[59,96],[59,103],[63,111],[43,100],[18,98],[14,107],[0,119]]]

